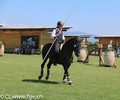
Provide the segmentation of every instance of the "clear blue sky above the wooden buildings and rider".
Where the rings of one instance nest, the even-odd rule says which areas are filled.
[[[56,27],[65,21],[71,32],[120,35],[120,0],[0,0],[4,27]]]

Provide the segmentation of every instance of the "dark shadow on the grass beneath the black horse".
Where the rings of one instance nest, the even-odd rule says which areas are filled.
[[[23,79],[23,82],[33,82],[33,83],[43,83],[43,84],[60,84],[55,81],[47,81],[47,80],[36,80],[36,79]]]

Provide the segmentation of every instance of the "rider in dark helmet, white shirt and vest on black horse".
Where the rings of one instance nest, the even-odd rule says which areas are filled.
[[[55,57],[53,61],[54,65],[56,65],[58,54],[60,52],[60,46],[65,40],[64,34],[62,32],[62,28],[63,28],[63,22],[59,21],[57,23],[56,29],[54,29],[53,33],[51,34],[51,38],[54,38],[54,39],[57,38],[55,41]]]

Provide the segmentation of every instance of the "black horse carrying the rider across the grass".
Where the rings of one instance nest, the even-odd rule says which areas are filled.
[[[48,43],[43,47],[43,49],[42,49],[43,59],[44,59],[45,55],[47,54],[47,51],[49,50],[51,45],[52,45],[51,43]],[[64,76],[63,76],[63,83],[66,83],[68,81],[69,85],[73,85],[72,81],[70,81],[68,68],[70,67],[70,65],[73,61],[73,51],[75,52],[75,55],[78,57],[80,47],[81,47],[81,41],[80,40],[78,40],[77,38],[69,39],[68,41],[65,42],[62,50],[60,51],[60,53],[58,55],[57,63],[63,65],[64,71],[65,71]],[[47,59],[49,58],[49,62],[47,64],[46,80],[50,76],[50,67],[53,64],[54,54],[55,54],[55,50],[54,50],[54,46],[53,46],[49,55],[47,56]],[[39,80],[43,77],[43,69],[44,69],[44,65],[45,65],[47,59],[41,65],[41,75],[38,77]],[[66,76],[67,76],[67,80],[66,80]]]

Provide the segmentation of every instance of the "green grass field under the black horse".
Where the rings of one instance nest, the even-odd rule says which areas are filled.
[[[91,56],[89,64],[74,62],[69,69],[74,83],[70,86],[62,83],[60,65],[51,67],[48,81],[45,67],[43,79],[38,80],[40,55],[5,54],[0,57],[0,97],[41,94],[43,100],[120,100],[120,58],[116,58],[117,68],[100,67],[98,60]]]

